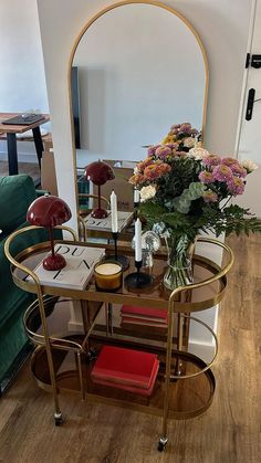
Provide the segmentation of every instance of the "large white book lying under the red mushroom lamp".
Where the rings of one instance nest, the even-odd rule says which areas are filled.
[[[64,256],[66,266],[61,270],[50,271],[43,269],[43,261],[41,261],[33,272],[43,285],[61,286],[72,290],[85,288],[93,275],[94,265],[105,255],[105,249],[103,248],[81,246],[76,244],[58,243],[54,246],[54,251]],[[29,275],[27,276],[27,281],[33,280]]]

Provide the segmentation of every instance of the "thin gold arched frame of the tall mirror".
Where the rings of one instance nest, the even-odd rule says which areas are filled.
[[[115,8],[118,7],[124,7],[126,4],[135,4],[135,3],[139,3],[139,4],[152,4],[155,7],[159,7],[163,8],[164,10],[169,11],[170,13],[175,14],[177,18],[180,19],[180,21],[182,21],[187,28],[190,30],[190,32],[194,34],[195,39],[198,42],[198,45],[201,50],[202,53],[202,59],[203,59],[203,64],[205,64],[205,73],[206,73],[206,81],[205,81],[205,95],[203,95],[203,106],[202,106],[202,143],[203,143],[203,137],[205,137],[205,127],[206,127],[206,117],[207,117],[207,101],[208,101],[208,84],[209,84],[209,66],[208,66],[208,59],[207,59],[207,53],[205,50],[205,46],[202,44],[202,41],[198,34],[198,32],[195,30],[195,28],[192,27],[192,24],[181,14],[179,13],[177,10],[175,10],[171,7],[168,7],[167,4],[164,4],[161,2],[158,1],[150,1],[150,0],[123,0],[119,1],[117,3],[111,4],[108,7],[105,7],[103,10],[100,10],[96,14],[94,14],[87,22],[86,24],[83,27],[83,29],[81,30],[80,34],[77,35],[77,38],[74,41],[71,54],[70,54],[70,60],[69,60],[69,67],[67,67],[67,87],[69,87],[69,103],[70,103],[70,118],[71,118],[71,136],[72,136],[72,154],[73,154],[73,165],[74,165],[74,171],[73,171],[73,176],[74,176],[74,189],[75,189],[75,199],[77,198],[77,178],[76,178],[76,148],[75,148],[75,143],[74,143],[74,123],[73,123],[73,109],[72,109],[72,88],[71,88],[71,70],[72,70],[72,64],[73,64],[73,59],[77,49],[77,45],[81,41],[81,39],[83,38],[84,33],[87,31],[87,29],[102,15],[106,14],[108,11],[114,10]],[[76,210],[77,210],[77,215],[79,215],[79,203],[76,201]]]

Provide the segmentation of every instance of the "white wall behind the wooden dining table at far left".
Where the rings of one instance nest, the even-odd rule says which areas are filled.
[[[0,112],[49,113],[36,0],[0,1]],[[28,143],[18,149],[35,152]],[[7,154],[6,141],[0,154]],[[35,154],[31,158],[35,162]]]

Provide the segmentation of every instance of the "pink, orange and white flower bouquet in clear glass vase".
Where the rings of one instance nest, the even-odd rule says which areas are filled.
[[[192,282],[192,244],[200,231],[217,236],[261,231],[261,221],[249,209],[230,201],[243,193],[246,178],[257,167],[208,152],[188,123],[171,126],[161,144],[148,148],[129,182],[140,191],[142,215],[166,239],[166,287]]]

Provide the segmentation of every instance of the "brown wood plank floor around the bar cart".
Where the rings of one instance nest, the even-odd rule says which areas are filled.
[[[171,421],[164,453],[157,417],[63,396],[66,421],[53,425],[53,402],[29,365],[0,401],[1,463],[258,463],[261,461],[261,235],[229,240],[236,253],[220,309],[217,391],[196,419]]]

